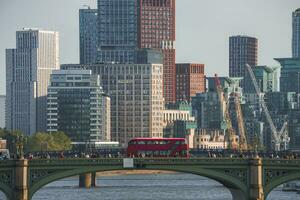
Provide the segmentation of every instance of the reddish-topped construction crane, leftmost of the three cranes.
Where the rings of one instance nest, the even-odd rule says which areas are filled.
[[[228,141],[228,148],[229,149],[237,149],[237,144],[235,141],[236,133],[232,128],[232,122],[231,122],[230,115],[228,112],[228,106],[225,101],[224,91],[223,91],[223,88],[221,86],[221,83],[220,83],[220,80],[219,80],[219,77],[217,74],[215,74],[215,85],[216,85],[217,93],[219,96],[221,109],[223,108],[222,114],[224,116],[224,121],[225,121],[226,128],[227,128],[226,139]]]

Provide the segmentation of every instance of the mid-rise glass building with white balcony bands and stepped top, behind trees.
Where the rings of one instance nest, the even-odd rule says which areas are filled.
[[[109,106],[98,75],[90,70],[55,70],[48,87],[47,131],[65,132],[81,149],[97,147],[110,141]]]

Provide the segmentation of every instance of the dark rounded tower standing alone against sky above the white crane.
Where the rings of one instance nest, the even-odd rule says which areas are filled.
[[[246,63],[250,66],[257,65],[258,41],[254,37],[231,36],[229,38],[229,76],[244,77]],[[241,82],[244,86],[244,81]]]

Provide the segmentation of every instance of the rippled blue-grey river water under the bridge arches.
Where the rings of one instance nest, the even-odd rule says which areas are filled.
[[[98,177],[96,188],[78,188],[78,177],[50,183],[33,200],[230,200],[228,189],[204,177],[183,174],[143,174]],[[0,194],[0,199],[5,199]],[[267,200],[297,200],[300,194],[276,188]]]

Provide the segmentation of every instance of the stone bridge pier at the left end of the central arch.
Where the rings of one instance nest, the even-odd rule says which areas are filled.
[[[15,190],[13,200],[29,200],[28,198],[28,160],[16,160]]]

